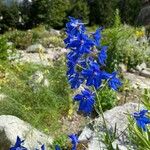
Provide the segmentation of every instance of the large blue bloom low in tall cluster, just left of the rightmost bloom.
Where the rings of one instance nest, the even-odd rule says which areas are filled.
[[[101,85],[101,70],[98,63],[91,61],[88,69],[84,69],[81,74],[87,79],[87,86],[94,86],[98,89]]]

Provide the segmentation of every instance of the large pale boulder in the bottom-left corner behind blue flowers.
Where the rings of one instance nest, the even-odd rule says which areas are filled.
[[[49,147],[53,142],[52,137],[43,134],[15,116],[0,116],[0,149],[8,150],[11,145],[15,144],[17,136],[25,140],[24,146],[29,150],[40,148],[42,144]]]

